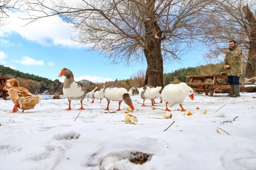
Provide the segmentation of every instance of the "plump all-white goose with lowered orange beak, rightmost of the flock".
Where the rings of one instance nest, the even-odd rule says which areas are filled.
[[[186,111],[182,107],[182,103],[185,100],[185,97],[189,96],[191,100],[194,100],[194,91],[186,83],[166,85],[163,88],[161,95],[166,105],[165,111],[171,111],[167,108],[167,104],[169,104],[169,107],[173,107],[173,105],[179,104],[181,111]]]

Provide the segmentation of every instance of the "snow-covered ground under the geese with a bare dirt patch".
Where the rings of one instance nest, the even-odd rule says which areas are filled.
[[[115,101],[105,111],[106,99],[84,99],[80,113],[80,101],[65,111],[67,99],[45,95],[35,109],[12,113],[12,101],[1,99],[0,169],[255,170],[256,93],[240,95],[187,97],[183,107],[193,115],[175,105],[169,107],[171,119],[163,118],[165,103],[159,99],[153,110],[150,100],[141,107],[143,100],[132,96],[135,111],[129,114],[138,118],[136,125],[125,124],[124,102],[122,111]],[[136,160],[142,164],[132,163]]]

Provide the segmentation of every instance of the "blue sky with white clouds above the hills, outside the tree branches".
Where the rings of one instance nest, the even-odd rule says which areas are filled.
[[[74,32],[67,29],[67,23],[58,17],[43,18],[24,26],[28,21],[21,20],[22,11],[9,12],[5,26],[0,28],[0,64],[48,79],[59,79],[64,67],[70,69],[75,81],[87,79],[92,82],[105,82],[115,79],[129,79],[139,70],[146,70],[146,63],[125,66],[125,63],[111,65],[97,52],[87,51],[71,41]],[[203,61],[203,51],[187,53],[180,63],[164,65],[164,73],[183,67],[196,67]],[[64,77],[60,79],[64,81]]]

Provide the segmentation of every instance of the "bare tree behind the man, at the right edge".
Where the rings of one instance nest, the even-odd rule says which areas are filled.
[[[255,11],[253,13],[252,11]],[[216,0],[206,22],[203,39],[213,57],[222,54],[230,40],[236,40],[247,62],[244,77],[256,76],[256,0]]]

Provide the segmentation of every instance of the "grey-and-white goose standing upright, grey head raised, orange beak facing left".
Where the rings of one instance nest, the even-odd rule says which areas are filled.
[[[81,83],[74,80],[74,75],[69,69],[63,68],[58,77],[62,77],[63,75],[66,77],[63,86],[63,94],[69,101],[69,108],[65,110],[71,110],[71,100],[80,100],[81,108],[79,110],[85,110],[83,108],[83,99],[85,99],[86,96],[86,88],[83,87]]]

